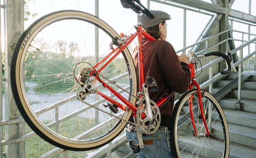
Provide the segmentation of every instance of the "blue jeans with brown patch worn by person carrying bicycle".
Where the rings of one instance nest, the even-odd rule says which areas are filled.
[[[127,140],[134,140],[137,144],[137,134],[125,129]],[[138,153],[139,158],[172,158],[170,134],[167,127],[160,126],[154,135],[142,135],[144,148]]]

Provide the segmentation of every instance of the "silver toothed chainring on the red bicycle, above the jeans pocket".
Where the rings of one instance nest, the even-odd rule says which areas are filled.
[[[136,117],[137,123],[141,131],[147,135],[153,135],[158,130],[160,126],[160,121],[161,121],[160,110],[156,105],[156,103],[153,100],[150,100],[150,105],[151,105],[151,111],[154,117],[152,124],[150,124],[149,121],[145,121],[147,118],[145,101],[142,101],[139,104],[139,107],[137,110],[137,117]],[[144,119],[142,119],[142,117],[144,117]]]

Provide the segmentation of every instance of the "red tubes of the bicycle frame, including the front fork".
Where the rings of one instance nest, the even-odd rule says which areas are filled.
[[[139,18],[140,17],[138,16],[138,21],[140,21]],[[101,61],[96,63],[93,67],[95,69],[98,69],[97,73],[101,72],[116,56],[119,55],[119,53],[121,53],[125,48],[127,48],[127,46],[136,37],[138,37],[139,85],[140,85],[139,89],[141,90],[142,89],[142,84],[145,83],[145,81],[144,81],[144,65],[143,65],[143,50],[142,50],[142,36],[147,38],[148,40],[156,40],[156,39],[151,37],[144,30],[142,30],[141,26],[138,25],[136,27],[136,29],[137,29],[137,32],[135,32],[134,34],[131,34],[131,36],[128,39],[126,39],[126,41],[124,42],[123,45],[121,45],[119,47],[116,47],[115,49],[112,48],[112,51],[106,57],[104,57]],[[105,62],[105,61],[106,61],[106,63],[104,65],[102,65],[100,68],[98,68],[100,63]],[[201,96],[200,86],[197,83],[197,81],[195,80],[195,65],[194,65],[194,63],[188,63],[188,66],[189,66],[190,72],[191,72],[190,78],[192,79],[191,83],[189,85],[189,90],[192,89],[193,86],[196,86],[196,88],[197,88],[198,99],[199,99],[199,109],[200,109],[201,116],[203,118],[203,122],[204,122],[204,125],[205,125],[205,128],[206,128],[206,131],[207,131],[207,135],[209,136],[210,132],[209,132],[209,129],[207,127],[205,116],[204,116],[204,110],[203,110],[203,105],[202,105],[202,98],[201,98],[202,96]],[[92,71],[91,73],[95,73],[95,72]],[[96,79],[98,81],[100,81],[105,88],[109,89],[118,99],[120,99],[122,102],[124,102],[125,105],[127,107],[129,107],[133,111],[132,115],[134,117],[136,117],[137,107],[135,105],[132,105],[127,99],[125,99],[123,96],[121,96],[115,89],[113,89],[111,86],[109,86],[106,82],[100,80],[100,78],[98,76],[96,76]],[[105,95],[104,93],[100,92],[99,90],[97,90],[97,93],[100,96],[102,96],[103,98],[105,98],[107,101],[111,102],[112,104],[117,105],[118,108],[120,108],[121,110],[125,110],[126,109],[125,105],[122,105],[120,102],[118,102],[118,101],[108,97],[107,95]],[[167,100],[169,100],[173,96],[174,96],[174,92],[167,94],[165,97],[163,97],[162,99],[160,99],[156,103],[157,106],[160,107],[161,105],[163,105]],[[142,96],[140,95],[140,98],[141,97]],[[190,100],[190,102],[189,102],[189,112],[190,112],[190,117],[191,117],[191,120],[192,120],[191,124],[193,125],[194,131],[195,131],[194,135],[197,135],[198,132],[196,130],[195,121],[194,121],[194,117],[193,117],[194,114],[193,114],[193,110],[192,110],[193,109],[192,98],[190,98],[189,100]]]

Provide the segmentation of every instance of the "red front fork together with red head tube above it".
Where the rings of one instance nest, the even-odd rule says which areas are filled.
[[[192,89],[193,86],[196,86],[197,96],[198,96],[198,101],[199,101],[198,107],[200,109],[201,117],[202,117],[204,125],[205,125],[206,134],[209,136],[210,132],[209,132],[208,126],[206,124],[206,120],[205,120],[205,116],[204,116],[201,88],[200,88],[199,84],[197,83],[197,81],[194,79],[195,78],[195,65],[194,65],[194,63],[188,63],[188,67],[190,68],[190,78],[192,79],[188,89],[190,90],[190,89]],[[189,112],[190,112],[190,117],[191,117],[191,124],[194,128],[195,134],[198,134],[198,132],[196,130],[195,120],[194,120],[192,99],[194,99],[194,96],[189,98]]]

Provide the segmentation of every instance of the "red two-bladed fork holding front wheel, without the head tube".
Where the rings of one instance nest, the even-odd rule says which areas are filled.
[[[191,84],[189,85],[189,89],[191,89],[193,86],[196,86],[196,88],[197,88],[197,96],[198,96],[198,104],[199,104],[198,107],[199,107],[200,114],[201,114],[201,117],[202,117],[202,120],[203,120],[205,129],[206,129],[205,135],[206,135],[207,137],[209,137],[209,136],[210,136],[210,131],[209,131],[209,128],[208,128],[207,123],[206,123],[206,120],[205,120],[201,89],[200,89],[199,84],[198,84],[195,80],[192,80]],[[197,136],[200,136],[201,134],[198,133],[198,131],[197,131],[197,129],[196,129],[195,120],[194,120],[193,102],[192,102],[192,99],[193,99],[193,98],[194,98],[194,96],[191,96],[191,97],[189,98],[189,113],[190,113],[190,118],[191,118],[191,124],[192,124],[193,129],[194,129],[193,135],[194,135],[195,137],[197,137]],[[208,120],[208,121],[209,121],[209,126],[210,126],[210,120]]]

